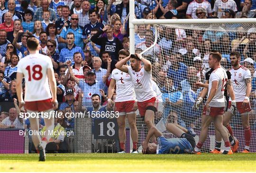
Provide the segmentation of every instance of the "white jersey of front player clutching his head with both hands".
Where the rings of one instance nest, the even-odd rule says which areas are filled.
[[[144,102],[152,97],[156,97],[151,83],[152,70],[146,71],[144,67],[142,67],[139,71],[134,71],[128,66],[128,74],[132,78],[138,102]]]

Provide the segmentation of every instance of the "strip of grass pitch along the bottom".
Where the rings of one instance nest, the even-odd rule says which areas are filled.
[[[256,153],[233,155],[0,154],[0,172],[256,172]]]

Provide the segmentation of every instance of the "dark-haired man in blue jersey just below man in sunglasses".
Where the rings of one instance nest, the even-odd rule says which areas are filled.
[[[73,65],[74,64],[73,54],[75,52],[80,52],[82,55],[82,60],[84,60],[84,54],[82,52],[81,47],[78,47],[76,46],[76,44],[74,44],[75,35],[71,32],[67,33],[66,40],[67,40],[67,46],[66,48],[62,49],[60,52],[60,66],[64,65],[65,62],[67,61],[71,61]]]

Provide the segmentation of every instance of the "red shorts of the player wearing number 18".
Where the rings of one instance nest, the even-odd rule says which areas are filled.
[[[42,112],[49,109],[53,109],[52,99],[34,101],[34,102],[25,102],[25,109],[28,111]]]

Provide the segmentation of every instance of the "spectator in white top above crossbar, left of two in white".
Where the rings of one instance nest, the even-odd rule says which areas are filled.
[[[208,16],[212,17],[212,10],[211,10],[210,3],[208,1],[194,0],[188,5],[188,9],[186,12],[186,18],[198,18],[196,16],[196,9],[199,7],[203,7],[207,11]]]

